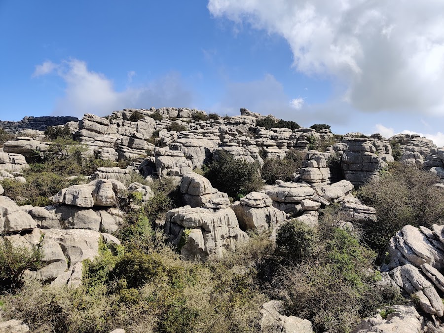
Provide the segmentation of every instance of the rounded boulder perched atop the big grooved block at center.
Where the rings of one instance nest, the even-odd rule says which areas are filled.
[[[180,189],[185,205],[193,208],[204,207],[206,203],[217,199],[222,199],[225,204],[229,204],[226,193],[219,192],[208,179],[195,172],[187,173],[182,177]]]

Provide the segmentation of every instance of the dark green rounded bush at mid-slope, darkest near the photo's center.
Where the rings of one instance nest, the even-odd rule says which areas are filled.
[[[239,194],[246,195],[256,191],[263,185],[258,168],[257,163],[235,159],[233,155],[222,150],[219,159],[208,165],[205,177],[211,185],[236,198]]]

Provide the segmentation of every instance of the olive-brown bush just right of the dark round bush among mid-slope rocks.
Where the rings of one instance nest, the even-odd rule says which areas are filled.
[[[302,165],[305,153],[296,149],[290,149],[285,158],[266,158],[263,162],[261,175],[268,185],[274,185],[276,180],[284,182],[293,180],[292,174]]]

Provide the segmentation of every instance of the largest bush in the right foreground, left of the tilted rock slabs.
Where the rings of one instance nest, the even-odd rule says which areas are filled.
[[[278,253],[293,264],[280,266],[273,289],[285,300],[285,314],[312,321],[316,332],[346,333],[361,317],[402,297],[375,285],[374,252],[332,222],[321,221],[319,230],[295,220],[281,226]]]

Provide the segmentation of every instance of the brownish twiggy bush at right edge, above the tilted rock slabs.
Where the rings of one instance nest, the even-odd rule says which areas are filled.
[[[361,201],[374,207],[378,222],[362,225],[369,245],[382,251],[387,241],[404,225],[441,224],[444,221],[444,196],[434,186],[439,178],[415,167],[394,163],[379,182],[371,181],[358,192]]]

